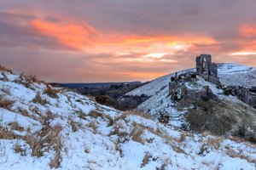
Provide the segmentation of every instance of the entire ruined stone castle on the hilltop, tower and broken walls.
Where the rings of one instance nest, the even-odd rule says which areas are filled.
[[[187,72],[171,78],[169,83],[169,94],[172,102],[179,105],[189,106],[201,99],[217,99],[217,96],[212,93],[209,86],[202,86],[197,83],[199,77],[202,77],[207,82],[214,83],[217,88],[223,89],[225,95],[234,95],[237,99],[247,105],[256,107],[256,90],[255,88],[243,88],[236,86],[224,87],[218,79],[217,64],[212,63],[210,54],[201,54],[195,59],[196,72]]]

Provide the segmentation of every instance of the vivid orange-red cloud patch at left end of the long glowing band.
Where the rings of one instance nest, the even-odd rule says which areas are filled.
[[[91,45],[91,38],[96,30],[88,25],[57,25],[44,20],[33,20],[32,25],[41,33],[55,37],[69,48],[82,49]]]

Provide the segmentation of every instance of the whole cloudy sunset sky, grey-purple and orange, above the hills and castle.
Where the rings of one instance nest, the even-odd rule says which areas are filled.
[[[148,81],[195,57],[256,66],[255,0],[0,0],[0,64],[46,82]]]

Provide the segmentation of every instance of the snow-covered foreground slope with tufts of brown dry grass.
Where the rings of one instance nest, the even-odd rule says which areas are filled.
[[[0,74],[0,169],[247,169],[256,147]]]

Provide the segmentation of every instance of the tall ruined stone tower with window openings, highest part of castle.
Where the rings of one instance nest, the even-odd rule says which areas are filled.
[[[201,54],[196,57],[196,74],[203,77],[208,82],[218,84],[217,65],[212,63],[210,54]]]

